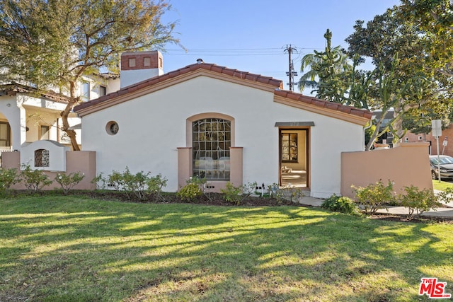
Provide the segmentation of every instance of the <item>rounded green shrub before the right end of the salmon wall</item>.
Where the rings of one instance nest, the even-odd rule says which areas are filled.
[[[437,209],[440,207],[440,202],[437,202],[432,190],[425,189],[419,190],[418,187],[411,185],[410,187],[404,187],[405,194],[399,194],[398,200],[401,202],[403,207],[409,208],[408,219],[413,219],[414,211],[416,216],[420,216],[424,211],[430,209]]]

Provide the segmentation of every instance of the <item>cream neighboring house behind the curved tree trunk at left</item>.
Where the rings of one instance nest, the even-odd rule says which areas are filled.
[[[77,95],[81,96],[81,100],[87,101],[119,88],[118,76],[86,76],[79,83]],[[21,150],[33,141],[42,139],[69,146],[69,138],[60,129],[60,113],[67,101],[68,97],[64,93],[38,92],[35,88],[20,83],[0,85],[0,155],[5,151]],[[80,118],[72,113],[69,124],[74,126],[76,139],[81,144]]]

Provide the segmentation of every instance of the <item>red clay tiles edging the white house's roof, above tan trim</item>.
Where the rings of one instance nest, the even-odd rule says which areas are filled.
[[[357,115],[359,117],[365,117],[367,119],[370,119],[372,116],[371,112],[369,112],[367,110],[362,110],[362,109],[358,109],[358,108],[354,108],[354,107],[350,107],[350,106],[345,106],[345,105],[341,105],[339,103],[332,103],[332,102],[328,102],[326,100],[319,100],[317,98],[312,98],[312,97],[309,97],[306,95],[302,95],[300,93],[294,93],[292,91],[282,91],[282,86],[283,86],[282,81],[273,79],[268,76],[261,76],[260,74],[251,74],[246,71],[239,71],[237,69],[229,69],[224,66],[217,66],[215,64],[207,64],[207,63],[188,65],[181,69],[177,69],[175,71],[170,71],[167,74],[163,74],[161,76],[156,76],[154,78],[147,79],[147,80],[141,81],[139,83],[134,83],[134,84],[127,86],[125,88],[122,88],[119,91],[116,91],[114,93],[109,93],[108,95],[101,96],[101,98],[97,98],[96,100],[90,100],[86,103],[81,103],[80,105],[77,105],[74,108],[74,111],[78,112],[79,110],[82,110],[84,108],[88,108],[93,105],[103,103],[106,100],[110,100],[112,98],[117,98],[120,95],[132,93],[133,91],[137,91],[139,89],[146,88],[148,86],[156,85],[157,83],[161,83],[168,79],[173,79],[177,76],[181,76],[183,74],[188,74],[190,72],[197,71],[198,69],[213,71],[218,74],[225,74],[226,76],[234,76],[239,79],[248,80],[248,81],[256,81],[258,83],[263,83],[266,85],[274,86],[275,95],[279,95],[284,98],[289,98],[292,100],[297,100],[302,103],[316,105],[316,106],[319,106],[322,108],[336,110],[336,111],[348,113],[351,115]]]

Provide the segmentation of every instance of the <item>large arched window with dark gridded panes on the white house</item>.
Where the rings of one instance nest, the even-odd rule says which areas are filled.
[[[229,180],[231,121],[205,118],[192,123],[193,175]]]

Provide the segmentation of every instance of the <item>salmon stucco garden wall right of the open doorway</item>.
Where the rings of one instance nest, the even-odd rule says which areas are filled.
[[[354,197],[351,185],[394,182],[394,192],[415,185],[432,190],[428,143],[402,143],[397,148],[341,154],[341,194]]]

